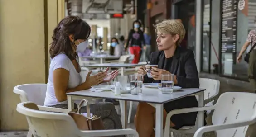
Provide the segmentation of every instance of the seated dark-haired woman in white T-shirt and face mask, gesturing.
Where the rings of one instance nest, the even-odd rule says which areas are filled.
[[[106,73],[100,72],[90,76],[89,71],[86,81],[82,82],[80,66],[76,60],[77,52],[83,52],[87,47],[87,38],[91,33],[90,26],[76,16],[64,18],[53,30],[53,42],[50,47],[52,61],[49,68],[46,97],[44,106],[68,109],[68,92],[87,90],[92,85],[113,80],[118,71],[112,71],[110,79],[106,80]],[[77,104],[75,104],[75,107]],[[101,102],[90,105],[91,113],[100,116],[106,129],[121,129],[121,121],[112,103]],[[86,112],[86,107],[82,107]]]

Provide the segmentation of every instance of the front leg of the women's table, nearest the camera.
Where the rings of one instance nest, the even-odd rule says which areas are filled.
[[[155,137],[163,137],[164,105],[155,104]]]

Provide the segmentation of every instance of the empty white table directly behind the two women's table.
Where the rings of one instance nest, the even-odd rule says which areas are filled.
[[[130,64],[130,63],[101,63],[101,64],[88,64],[83,65],[82,67],[115,67],[121,69],[121,76],[124,76],[125,68],[126,67],[136,67],[136,66],[143,66],[146,64]]]

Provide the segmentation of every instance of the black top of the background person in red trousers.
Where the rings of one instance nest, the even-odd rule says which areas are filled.
[[[135,32],[134,29],[131,29],[126,42],[126,49],[127,47],[132,47],[133,45],[141,47],[142,43],[145,44],[143,32],[140,29],[137,32]]]

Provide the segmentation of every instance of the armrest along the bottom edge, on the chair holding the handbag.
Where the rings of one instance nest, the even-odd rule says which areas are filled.
[[[109,137],[118,135],[133,135],[139,137],[139,134],[133,129],[113,129],[113,130],[88,130],[81,131],[79,137]]]

